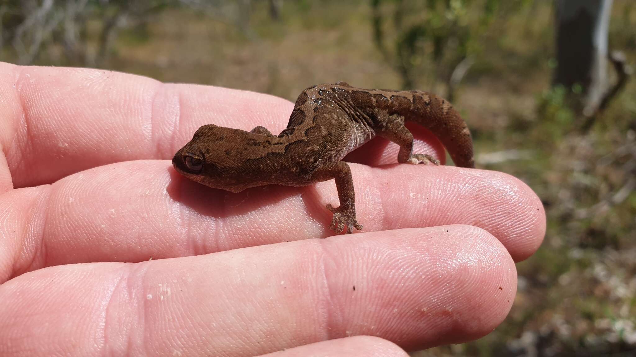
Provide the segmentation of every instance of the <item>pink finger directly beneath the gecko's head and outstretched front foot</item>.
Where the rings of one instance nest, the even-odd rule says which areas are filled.
[[[515,260],[534,253],[543,239],[539,199],[509,175],[448,166],[351,166],[366,232],[472,224],[499,239]],[[5,261],[13,271],[0,271],[0,277],[59,264],[140,262],[324,238],[332,234],[327,203],[338,205],[333,181],[233,194],[181,177],[170,161],[100,166],[3,195],[0,208],[13,217],[0,222],[0,230],[10,235]]]

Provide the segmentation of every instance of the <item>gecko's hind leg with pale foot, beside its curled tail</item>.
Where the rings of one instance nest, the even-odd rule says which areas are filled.
[[[439,165],[439,160],[429,154],[413,154],[413,134],[404,126],[404,117],[398,114],[389,116],[384,130],[378,132],[378,136],[399,145],[397,153],[398,163]]]

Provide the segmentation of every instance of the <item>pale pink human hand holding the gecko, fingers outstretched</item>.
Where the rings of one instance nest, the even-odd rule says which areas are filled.
[[[384,165],[398,148],[376,139],[347,157],[364,231],[314,239],[333,182],[235,194],[174,172],[199,126],[278,132],[292,108],[0,64],[0,355],[406,356],[497,327],[545,232],[520,180]]]

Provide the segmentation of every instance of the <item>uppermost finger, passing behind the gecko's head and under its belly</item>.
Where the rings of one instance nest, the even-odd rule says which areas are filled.
[[[0,63],[0,145],[6,156],[0,190],[9,189],[11,179],[14,187],[27,187],[109,163],[170,159],[204,124],[242,130],[260,125],[279,133],[292,109],[288,100],[251,91]],[[433,142],[426,152],[443,159]],[[394,162],[397,147],[385,146],[378,140],[367,148],[375,154],[366,156],[377,163],[387,152]]]

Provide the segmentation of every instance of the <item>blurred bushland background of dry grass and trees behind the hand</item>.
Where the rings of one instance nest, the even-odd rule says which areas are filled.
[[[634,0],[0,0],[0,60],[443,95],[548,231],[499,328],[413,355],[636,356]]]

